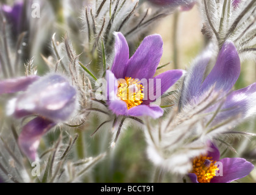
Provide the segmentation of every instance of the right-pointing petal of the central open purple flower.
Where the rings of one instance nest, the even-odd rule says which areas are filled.
[[[165,91],[167,91],[174,83],[177,82],[177,80],[180,79],[180,77],[182,77],[182,74],[182,70],[174,69],[166,71],[165,73],[159,74],[158,76],[154,77],[152,80],[154,81],[154,85],[150,85],[149,82],[148,86],[144,86],[143,93],[148,93],[148,96],[146,96],[146,100],[143,100],[143,104],[149,105],[151,102],[154,102],[157,98],[162,96]],[[157,79],[160,79],[161,82],[158,83]],[[161,90],[161,93],[157,93],[157,90]],[[154,99],[152,99],[153,97]]]

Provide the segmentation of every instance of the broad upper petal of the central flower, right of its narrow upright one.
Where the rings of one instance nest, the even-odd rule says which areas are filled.
[[[129,59],[124,76],[133,79],[151,79],[163,54],[163,40],[160,35],[144,38],[135,54]]]

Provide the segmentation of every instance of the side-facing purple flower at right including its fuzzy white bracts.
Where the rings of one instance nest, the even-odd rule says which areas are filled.
[[[156,166],[184,174],[191,169],[191,158],[206,152],[208,140],[232,133],[233,127],[255,116],[255,83],[230,92],[241,66],[232,41],[224,43],[208,73],[214,53],[209,47],[195,60],[169,117],[159,124],[146,122],[148,158]]]

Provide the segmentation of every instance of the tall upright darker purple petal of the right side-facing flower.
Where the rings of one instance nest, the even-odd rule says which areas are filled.
[[[217,62],[201,85],[200,96],[215,85],[216,91],[226,94],[231,90],[240,75],[240,58],[234,44],[226,41],[219,52]]]

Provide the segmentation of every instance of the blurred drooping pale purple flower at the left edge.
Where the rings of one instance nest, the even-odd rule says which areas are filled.
[[[36,116],[23,127],[18,138],[24,154],[35,160],[44,133],[57,123],[66,121],[74,112],[76,90],[59,74],[3,80],[0,87],[0,94],[24,91],[9,102],[9,114],[16,118]]]

